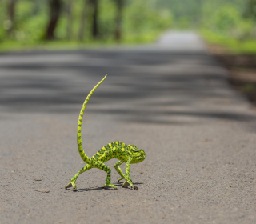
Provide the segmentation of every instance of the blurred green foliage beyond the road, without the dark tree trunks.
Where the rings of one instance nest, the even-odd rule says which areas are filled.
[[[0,43],[42,44],[49,22],[50,0],[16,0],[14,21],[10,0],[0,1]],[[85,0],[62,0],[62,14],[55,30],[56,42],[78,42]],[[90,0],[94,1],[94,0]],[[87,2],[90,2],[87,0]],[[114,42],[118,0],[98,0],[98,38],[92,36],[92,8],[86,6],[84,43]],[[207,39],[248,42],[255,38],[256,0],[125,0],[122,10],[122,42],[152,42],[163,30],[197,29]],[[69,14],[70,11],[70,14]],[[69,17],[70,16],[70,17]],[[72,18],[72,20],[69,20]],[[71,31],[67,29],[70,26]],[[12,32],[9,32],[9,30]],[[68,38],[71,32],[71,38]],[[14,46],[16,45],[14,44]]]

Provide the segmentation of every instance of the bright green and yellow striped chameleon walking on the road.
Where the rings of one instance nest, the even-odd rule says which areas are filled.
[[[86,166],[82,167],[82,169],[79,170],[73,178],[71,178],[70,183],[66,186],[66,188],[70,188],[73,186],[74,191],[77,190],[75,182],[78,179],[78,176],[92,168],[98,168],[106,172],[106,184],[103,186],[103,188],[108,186],[111,189],[117,190],[118,187],[111,184],[111,169],[109,166],[106,166],[106,164],[104,164],[104,162],[109,161],[112,158],[117,158],[119,160],[114,164],[115,170],[117,170],[118,174],[120,175],[120,178],[118,178],[118,182],[121,180],[125,180],[125,182],[123,182],[122,184],[122,187],[127,187],[130,185],[133,188],[133,182],[130,179],[130,164],[142,162],[146,158],[144,150],[139,150],[138,147],[134,145],[127,146],[125,143],[120,141],[111,142],[106,146],[103,146],[102,149],[98,150],[98,152],[94,154],[94,156],[91,158],[86,155],[82,148],[81,127],[83,114],[86,109],[87,102],[89,101],[91,95],[94,93],[94,90],[96,90],[98,86],[102,84],[106,76],[100,82],[98,82],[98,84],[94,86],[94,88],[90,91],[90,94],[88,94],[85,102],[82,104],[82,108],[79,114],[77,132],[78,151],[82,160],[86,162]],[[126,174],[123,174],[121,168],[119,167],[124,162],[126,163]],[[136,187],[136,189],[138,188]]]

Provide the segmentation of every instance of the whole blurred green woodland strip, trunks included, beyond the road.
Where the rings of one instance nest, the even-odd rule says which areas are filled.
[[[0,0],[0,50],[149,43],[174,29],[254,54],[255,19],[256,0]]]

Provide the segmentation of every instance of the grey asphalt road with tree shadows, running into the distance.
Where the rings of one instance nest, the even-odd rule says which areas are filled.
[[[86,154],[113,141],[146,151],[138,190],[104,190]],[[0,223],[255,223],[256,114],[193,33],[151,46],[0,54]],[[121,166],[124,169],[124,166]],[[39,191],[37,191],[39,190]],[[49,191],[44,193],[42,191]]]

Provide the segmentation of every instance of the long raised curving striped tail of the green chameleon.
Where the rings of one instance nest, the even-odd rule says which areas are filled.
[[[83,117],[83,113],[86,109],[86,105],[87,105],[87,102],[89,101],[91,95],[94,93],[94,91],[98,88],[99,85],[102,84],[102,82],[105,80],[106,78],[106,75],[105,77],[102,79],[101,82],[98,82],[98,84],[96,86],[94,86],[94,89],[92,89],[90,91],[90,94],[88,94],[88,96],[86,97],[86,100],[85,102],[83,103],[82,105],[82,108],[81,108],[81,111],[80,111],[80,114],[79,114],[79,118],[78,118],[78,151],[79,151],[79,154],[82,158],[82,160],[86,163],[90,163],[89,161],[89,158],[86,156],[84,150],[82,149],[82,139],[81,139],[81,126],[82,126],[82,117]]]

